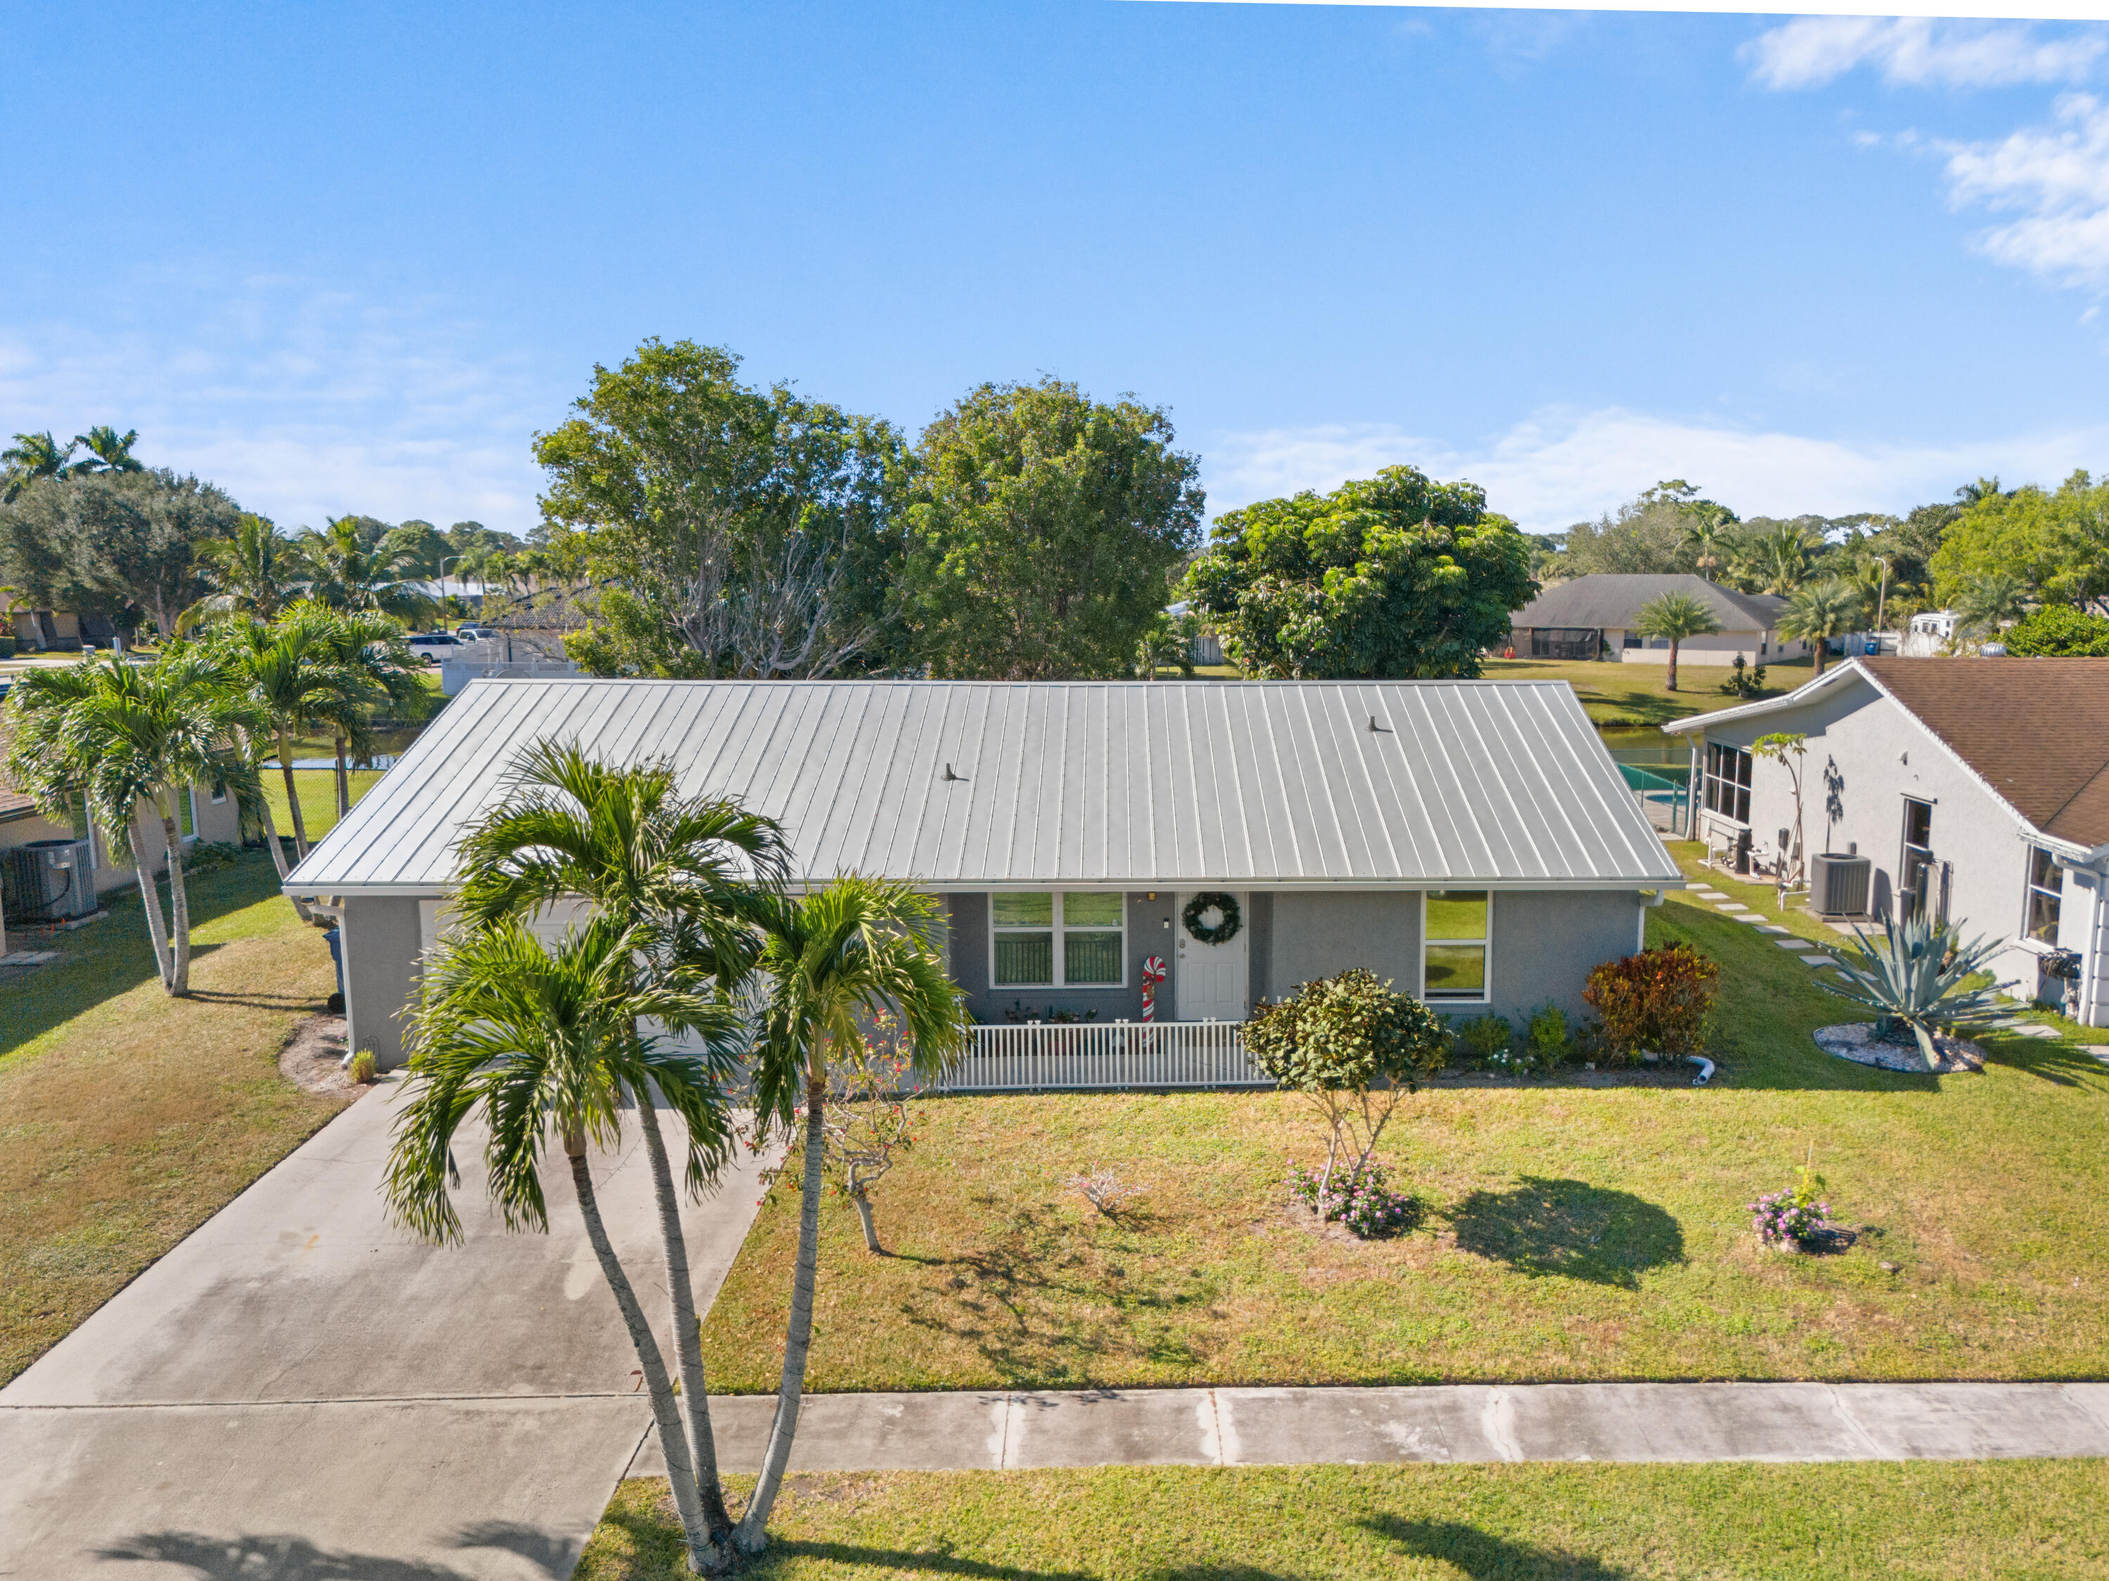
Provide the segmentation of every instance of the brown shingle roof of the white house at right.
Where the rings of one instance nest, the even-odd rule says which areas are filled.
[[[2109,843],[2109,658],[1860,664],[2039,831]]]

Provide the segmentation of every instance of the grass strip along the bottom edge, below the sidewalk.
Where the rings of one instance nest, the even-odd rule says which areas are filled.
[[[797,1476],[755,1581],[2109,1575],[2109,1465],[1318,1465]],[[624,1482],[576,1581],[688,1575]]]

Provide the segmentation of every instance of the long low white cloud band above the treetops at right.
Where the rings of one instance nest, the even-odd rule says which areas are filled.
[[[1744,516],[1843,516],[1942,500],[1980,474],[2063,479],[2098,466],[2105,449],[2109,426],[1966,445],[1852,445],[1611,407],[1542,411],[1470,447],[1386,424],[1223,434],[1204,449],[1204,466],[1217,512],[1413,464],[1478,483],[1493,510],[1542,533],[1613,510],[1662,479],[1691,479]]]

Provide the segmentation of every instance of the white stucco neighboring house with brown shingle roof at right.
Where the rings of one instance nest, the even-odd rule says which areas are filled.
[[[2010,940],[2025,997],[2056,949],[2079,955],[2079,1018],[2109,1024],[2109,660],[1860,658],[1772,702],[1664,725],[1691,736],[1698,837],[1748,831],[1774,858],[1795,822],[1759,736],[1807,736],[1810,852],[1873,864],[1869,911],[1928,911]]]

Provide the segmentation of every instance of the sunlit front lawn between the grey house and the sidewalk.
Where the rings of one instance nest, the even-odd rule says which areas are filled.
[[[1320,1153],[1291,1096],[915,1105],[875,1191],[894,1254],[827,1206],[812,1387],[2109,1374],[2109,1069],[2018,1037],[1982,1075],[1845,1065],[1810,1031],[1856,1016],[1769,936],[1672,896],[1649,938],[1723,963],[1717,1081],[1426,1090],[1384,1151],[1428,1204],[1396,1242],[1284,1210]],[[1843,1254],[1750,1235],[1807,1157],[1866,1227]],[[1069,1185],[1099,1168],[1145,1189],[1133,1214]],[[711,1309],[717,1387],[776,1387],[795,1227],[782,1193]]]

